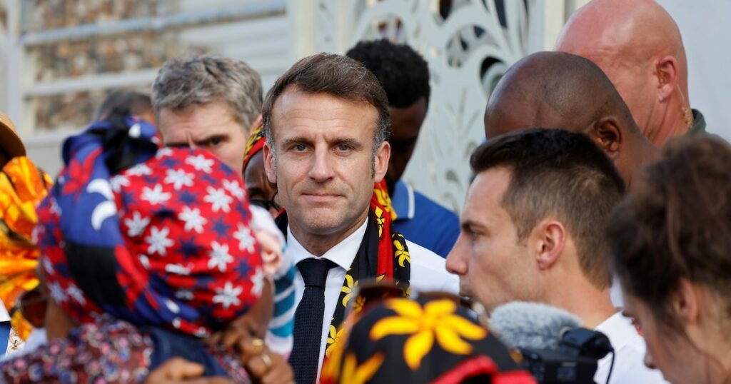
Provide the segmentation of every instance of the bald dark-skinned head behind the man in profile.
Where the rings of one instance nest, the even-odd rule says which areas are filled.
[[[627,187],[658,149],[640,132],[602,69],[569,53],[526,56],[505,73],[485,108],[485,137],[517,129],[584,133],[612,159]]]

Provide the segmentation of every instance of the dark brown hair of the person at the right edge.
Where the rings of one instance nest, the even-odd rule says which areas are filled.
[[[730,164],[731,146],[723,140],[670,140],[610,220],[622,288],[678,331],[669,304],[681,279],[716,293],[724,301],[724,317],[731,308]]]

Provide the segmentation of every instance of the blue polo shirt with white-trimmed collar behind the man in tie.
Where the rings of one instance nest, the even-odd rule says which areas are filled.
[[[447,257],[459,236],[457,215],[402,180],[396,181],[391,204],[397,216],[393,226],[406,240]]]

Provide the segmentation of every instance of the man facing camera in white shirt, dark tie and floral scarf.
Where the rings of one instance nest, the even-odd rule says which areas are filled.
[[[274,83],[262,116],[265,169],[287,211],[279,224],[298,263],[289,362],[297,383],[313,383],[358,282],[385,278],[412,293],[456,293],[457,279],[371,205],[390,146],[387,98],[368,69],[325,53],[300,60]]]

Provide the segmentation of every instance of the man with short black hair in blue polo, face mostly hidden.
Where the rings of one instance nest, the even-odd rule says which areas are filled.
[[[346,56],[373,72],[388,97],[391,158],[386,184],[396,213],[393,225],[409,240],[442,257],[459,236],[459,220],[401,179],[419,138],[429,105],[429,69],[409,45],[387,39],[359,42]]]

